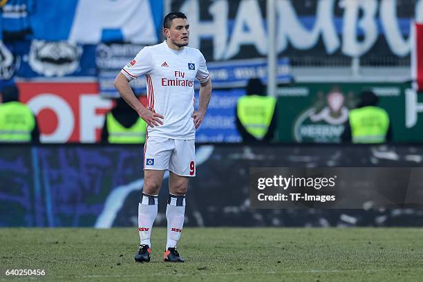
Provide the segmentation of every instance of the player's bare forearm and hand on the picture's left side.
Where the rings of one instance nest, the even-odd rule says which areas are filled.
[[[140,118],[147,122],[149,126],[154,127],[158,126],[159,124],[163,124],[162,120],[160,120],[160,118],[163,118],[162,115],[153,113],[153,111],[150,111],[146,107],[142,106],[140,100],[135,97],[131,86],[129,86],[129,79],[126,78],[122,73],[119,73],[116,76],[113,85],[119,91],[120,95],[126,101],[126,103],[128,103],[129,106],[131,106],[131,108],[134,109]]]

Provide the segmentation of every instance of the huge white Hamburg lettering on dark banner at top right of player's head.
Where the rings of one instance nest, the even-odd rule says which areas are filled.
[[[276,1],[277,42],[276,50],[281,53],[288,45],[297,50],[309,50],[316,47],[319,38],[328,54],[339,48],[344,55],[359,57],[372,48],[379,36],[377,14],[382,23],[384,36],[391,51],[397,56],[410,53],[410,39],[405,39],[398,25],[396,0],[341,0],[339,7],[344,9],[342,35],[335,26],[335,0],[317,1],[317,10],[312,28],[303,26],[294,9],[294,1]],[[380,3],[380,6],[379,6]],[[267,52],[267,35],[264,19],[257,0],[240,1],[234,29],[229,37],[229,2],[212,1],[209,6],[211,19],[200,20],[201,1],[185,1],[180,8],[187,15],[191,26],[190,45],[200,48],[201,39],[212,39],[213,58],[215,60],[234,57],[241,46],[252,44],[260,55]],[[412,5],[407,3],[407,5]],[[423,22],[423,0],[415,3],[415,20]],[[360,32],[360,33],[359,33]],[[241,76],[250,70],[240,70]],[[225,73],[222,73],[225,75]]]

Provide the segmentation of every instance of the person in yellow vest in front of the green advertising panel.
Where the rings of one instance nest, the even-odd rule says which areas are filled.
[[[372,91],[361,93],[359,104],[348,114],[342,142],[384,143],[392,140],[392,126],[388,113],[377,106],[379,97]]]

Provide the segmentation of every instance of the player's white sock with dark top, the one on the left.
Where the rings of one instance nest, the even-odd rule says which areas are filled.
[[[138,232],[140,232],[140,245],[147,244],[151,247],[151,228],[157,216],[158,196],[142,193],[138,203]]]

